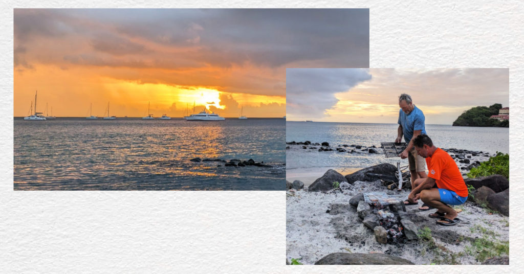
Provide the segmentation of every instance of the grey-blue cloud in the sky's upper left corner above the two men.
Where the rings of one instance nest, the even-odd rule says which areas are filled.
[[[320,118],[339,100],[335,93],[346,92],[372,79],[367,69],[287,69],[286,113]]]

